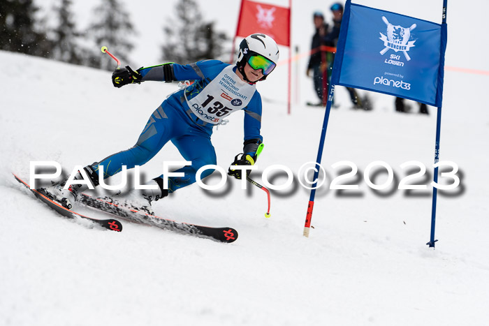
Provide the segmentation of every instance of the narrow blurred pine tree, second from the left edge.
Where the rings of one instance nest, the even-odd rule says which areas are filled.
[[[82,64],[82,52],[77,45],[80,33],[76,31],[73,22],[72,4],[71,0],[61,0],[59,6],[53,10],[57,15],[58,25],[52,30],[54,40],[50,57],[71,64]]]

